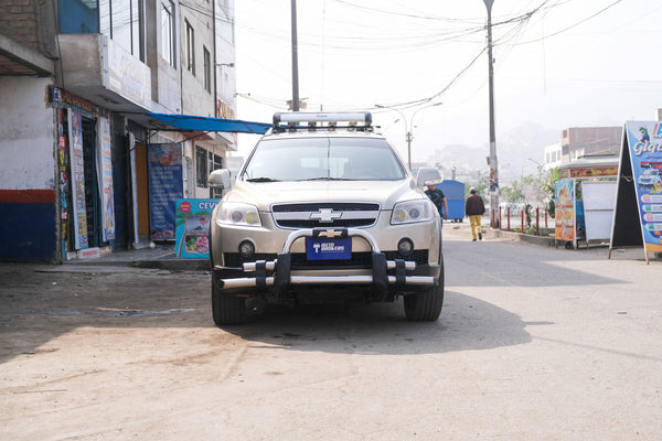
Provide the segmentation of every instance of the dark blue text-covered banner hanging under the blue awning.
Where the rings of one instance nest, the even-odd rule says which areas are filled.
[[[149,144],[149,222],[152,240],[175,239],[175,203],[183,197],[180,144]]]

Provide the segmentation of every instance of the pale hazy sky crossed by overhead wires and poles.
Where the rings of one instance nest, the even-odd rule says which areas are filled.
[[[239,119],[287,110],[290,3],[236,0]],[[375,104],[398,106],[407,126],[420,109],[414,161],[452,143],[489,152],[482,0],[298,0],[297,12],[307,110],[371,110],[406,157],[403,118]],[[652,120],[662,108],[660,0],[494,0],[492,22],[498,150],[500,133],[527,121],[560,140],[563,128]],[[241,137],[239,153],[255,141]]]

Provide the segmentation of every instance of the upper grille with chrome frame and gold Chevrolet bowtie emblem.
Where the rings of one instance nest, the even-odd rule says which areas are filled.
[[[309,202],[275,204],[274,222],[280,228],[361,228],[377,222],[380,204],[365,202]]]

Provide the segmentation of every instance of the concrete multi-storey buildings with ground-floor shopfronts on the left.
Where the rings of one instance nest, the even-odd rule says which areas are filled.
[[[0,2],[0,260],[173,239],[164,207],[207,197],[232,133],[153,117],[234,117],[232,0]]]

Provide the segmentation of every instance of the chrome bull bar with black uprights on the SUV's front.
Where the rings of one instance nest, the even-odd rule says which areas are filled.
[[[346,238],[361,237],[372,249],[372,275],[356,276],[291,276],[291,247],[300,238]],[[282,245],[282,250],[275,260],[257,260],[255,262],[245,262],[244,272],[255,272],[255,277],[221,279],[223,289],[234,288],[275,288],[276,293],[285,292],[289,284],[370,284],[375,288],[380,297],[385,297],[388,288],[404,290],[406,286],[429,286],[438,283],[435,277],[429,276],[407,276],[406,271],[416,269],[416,262],[405,261],[403,259],[386,260],[384,254],[380,250],[374,236],[364,229],[359,228],[309,228],[292,232]],[[395,276],[386,273],[387,270],[395,271]],[[269,275],[271,273],[271,275]]]

